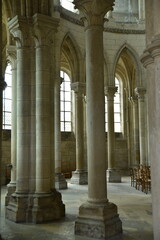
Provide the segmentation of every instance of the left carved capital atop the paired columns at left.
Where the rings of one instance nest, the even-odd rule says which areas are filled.
[[[30,20],[26,17],[15,16],[8,22],[10,33],[13,35],[18,48],[32,45]]]

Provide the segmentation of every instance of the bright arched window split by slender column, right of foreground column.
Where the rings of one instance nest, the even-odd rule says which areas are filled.
[[[121,96],[120,96],[120,83],[117,78],[115,78],[115,86],[117,87],[117,92],[114,97],[114,131],[121,132]],[[107,111],[107,97],[105,97],[105,131],[108,132],[108,111]]]

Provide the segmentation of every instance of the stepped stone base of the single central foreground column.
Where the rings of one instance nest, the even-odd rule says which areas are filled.
[[[79,208],[75,234],[94,239],[122,239],[122,222],[117,214],[117,206],[113,203],[84,203]]]

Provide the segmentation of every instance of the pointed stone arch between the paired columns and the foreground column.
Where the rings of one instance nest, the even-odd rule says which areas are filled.
[[[83,82],[82,54],[79,46],[70,32],[63,38],[61,44],[61,68],[71,77],[72,82]]]

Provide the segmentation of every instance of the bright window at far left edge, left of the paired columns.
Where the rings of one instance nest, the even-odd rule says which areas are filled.
[[[11,129],[12,71],[8,63],[5,71],[6,89],[3,91],[3,129]]]

